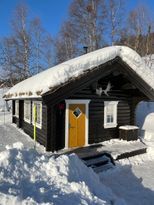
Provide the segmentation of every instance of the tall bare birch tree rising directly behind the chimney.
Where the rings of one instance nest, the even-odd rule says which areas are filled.
[[[70,20],[78,41],[88,51],[103,46],[106,6],[104,0],[74,0],[70,6]]]

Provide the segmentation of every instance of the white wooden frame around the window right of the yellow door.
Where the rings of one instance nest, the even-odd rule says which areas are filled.
[[[113,122],[107,122],[107,107],[113,106]],[[117,126],[117,108],[118,101],[104,101],[104,128],[113,128]]]

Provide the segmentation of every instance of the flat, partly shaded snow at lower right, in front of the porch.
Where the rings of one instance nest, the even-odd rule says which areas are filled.
[[[153,205],[154,153],[120,160],[114,170],[100,173],[103,184],[110,187],[129,205]]]

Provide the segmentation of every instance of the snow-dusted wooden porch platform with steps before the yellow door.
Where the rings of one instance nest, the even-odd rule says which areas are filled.
[[[147,146],[142,141],[115,140],[111,143],[98,143],[95,145],[63,150],[59,154],[75,153],[86,166],[91,167],[96,173],[113,168],[120,159],[133,157],[146,153]]]

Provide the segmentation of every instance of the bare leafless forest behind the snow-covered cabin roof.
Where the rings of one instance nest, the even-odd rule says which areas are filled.
[[[0,84],[9,86],[87,52],[126,45],[142,57],[154,53],[154,19],[147,5],[128,10],[126,0],[72,0],[56,36],[45,30],[29,6],[19,4],[11,33],[0,39]],[[52,26],[52,25],[51,25]]]

